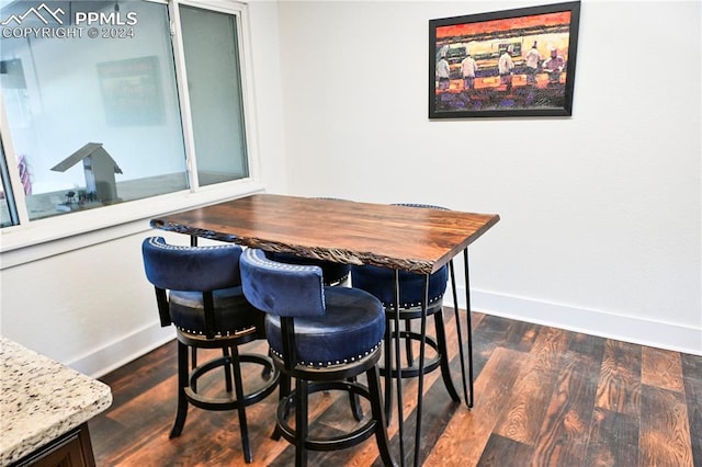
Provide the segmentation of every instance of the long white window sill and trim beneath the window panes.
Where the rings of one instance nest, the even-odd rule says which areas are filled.
[[[31,221],[0,231],[0,270],[38,261],[150,229],[149,219],[167,213],[262,192],[251,180],[207,186]]]

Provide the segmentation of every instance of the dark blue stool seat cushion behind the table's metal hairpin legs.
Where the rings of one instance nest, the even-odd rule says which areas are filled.
[[[429,276],[429,303],[441,299],[446,292],[448,267],[443,266]],[[395,271],[377,266],[352,266],[351,283],[354,287],[370,292],[386,308],[395,306]],[[399,272],[400,308],[421,305],[424,298],[424,276],[407,271]]]

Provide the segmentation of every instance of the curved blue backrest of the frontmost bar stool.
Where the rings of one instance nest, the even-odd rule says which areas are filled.
[[[321,267],[279,263],[253,248],[244,251],[239,265],[244,295],[261,311],[281,317],[325,314]]]

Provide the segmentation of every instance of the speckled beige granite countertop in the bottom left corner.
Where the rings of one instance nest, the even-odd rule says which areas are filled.
[[[103,412],[107,385],[0,335],[0,465]]]

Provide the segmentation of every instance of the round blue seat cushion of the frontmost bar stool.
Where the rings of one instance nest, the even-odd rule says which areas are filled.
[[[322,316],[295,318],[296,364],[344,364],[377,349],[385,333],[385,314],[377,298],[355,288],[325,287],[325,306]],[[271,350],[282,355],[279,316],[267,315],[265,335]]]

